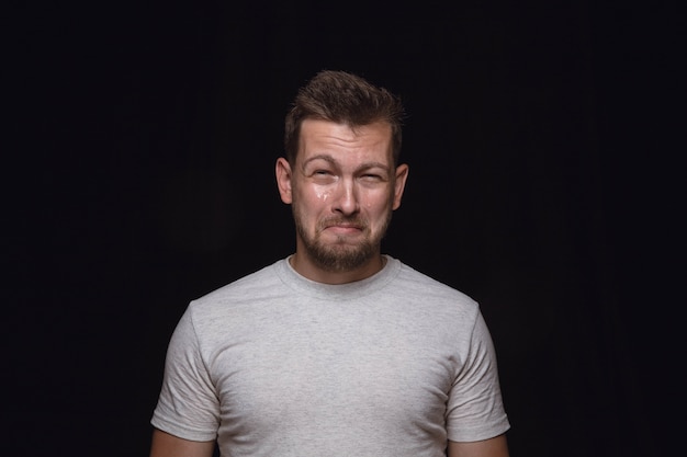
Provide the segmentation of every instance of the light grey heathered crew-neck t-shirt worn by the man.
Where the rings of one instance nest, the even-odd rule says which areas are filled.
[[[387,256],[326,285],[286,259],[189,305],[151,423],[223,456],[444,456],[509,427],[477,304]]]

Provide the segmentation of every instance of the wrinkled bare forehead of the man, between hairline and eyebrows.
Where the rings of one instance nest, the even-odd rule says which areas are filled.
[[[322,119],[305,119],[301,125],[299,156],[307,160],[318,155],[335,159],[375,159],[392,163],[392,128],[386,122],[351,127]]]

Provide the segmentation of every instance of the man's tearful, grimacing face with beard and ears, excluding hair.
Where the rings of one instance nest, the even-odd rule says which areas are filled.
[[[354,271],[379,256],[407,175],[406,165],[394,169],[387,123],[351,129],[306,119],[294,168],[280,160],[278,182],[292,205],[296,255],[328,272]]]

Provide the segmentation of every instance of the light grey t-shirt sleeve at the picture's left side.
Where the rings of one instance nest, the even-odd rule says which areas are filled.
[[[191,307],[171,336],[162,387],[150,423],[184,439],[216,438],[219,401],[203,359]]]

